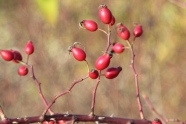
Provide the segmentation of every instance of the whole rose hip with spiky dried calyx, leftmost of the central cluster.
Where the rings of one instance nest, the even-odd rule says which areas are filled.
[[[78,61],[84,61],[86,59],[86,53],[81,48],[76,47],[79,42],[75,42],[74,45],[69,46],[68,51],[72,52],[74,58]]]

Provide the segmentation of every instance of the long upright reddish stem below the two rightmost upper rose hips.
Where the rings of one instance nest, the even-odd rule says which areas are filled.
[[[135,67],[134,67],[135,54],[134,54],[133,46],[130,44],[129,40],[127,40],[126,42],[127,42],[128,46],[129,46],[129,49],[131,51],[131,64],[130,64],[130,67],[132,69],[132,72],[134,74],[134,79],[135,79],[136,97],[137,97],[137,102],[138,102],[139,113],[140,113],[141,119],[144,119],[143,108],[142,108],[141,99],[140,99],[140,93],[139,93],[138,74],[136,73],[136,70],[135,70]]]

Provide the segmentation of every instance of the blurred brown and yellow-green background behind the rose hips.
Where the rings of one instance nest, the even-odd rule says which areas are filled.
[[[67,51],[74,42],[81,42],[90,68],[103,54],[106,35],[80,29],[85,19],[97,22],[98,6],[106,4],[131,32],[134,23],[143,26],[144,33],[134,45],[135,67],[139,75],[140,95],[146,94],[157,111],[166,118],[186,118],[186,10],[167,0],[0,0],[0,49],[15,49],[26,61],[24,47],[32,40],[35,52],[29,64],[41,82],[47,99],[69,88],[74,80],[87,75],[85,62],[76,61]],[[126,44],[112,27],[111,41]],[[110,66],[122,66],[120,75],[108,80],[101,77],[95,114],[123,118],[140,118],[135,82],[130,65],[130,51],[114,55]],[[45,109],[30,73],[17,74],[20,64],[0,59],[0,105],[8,117],[40,115]],[[91,95],[96,80],[86,79],[72,93],[59,98],[52,106],[56,113],[89,114]],[[142,98],[145,117],[154,115]]]

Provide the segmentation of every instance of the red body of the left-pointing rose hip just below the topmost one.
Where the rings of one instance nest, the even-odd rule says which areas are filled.
[[[96,31],[98,29],[98,25],[96,22],[92,20],[84,20],[83,21],[84,27],[89,31]]]

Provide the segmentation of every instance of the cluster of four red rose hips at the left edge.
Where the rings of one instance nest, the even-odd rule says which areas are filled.
[[[32,41],[28,41],[28,43],[25,46],[24,51],[28,55],[28,57],[34,52],[34,46],[33,46]],[[0,50],[0,54],[1,54],[1,57],[7,62],[12,61],[14,63],[24,64],[18,68],[18,74],[20,76],[25,76],[28,74],[28,68],[26,66],[26,64],[28,63],[28,57],[27,57],[27,62],[24,63],[22,61],[21,53],[17,50],[12,50],[12,49],[11,50]]]

